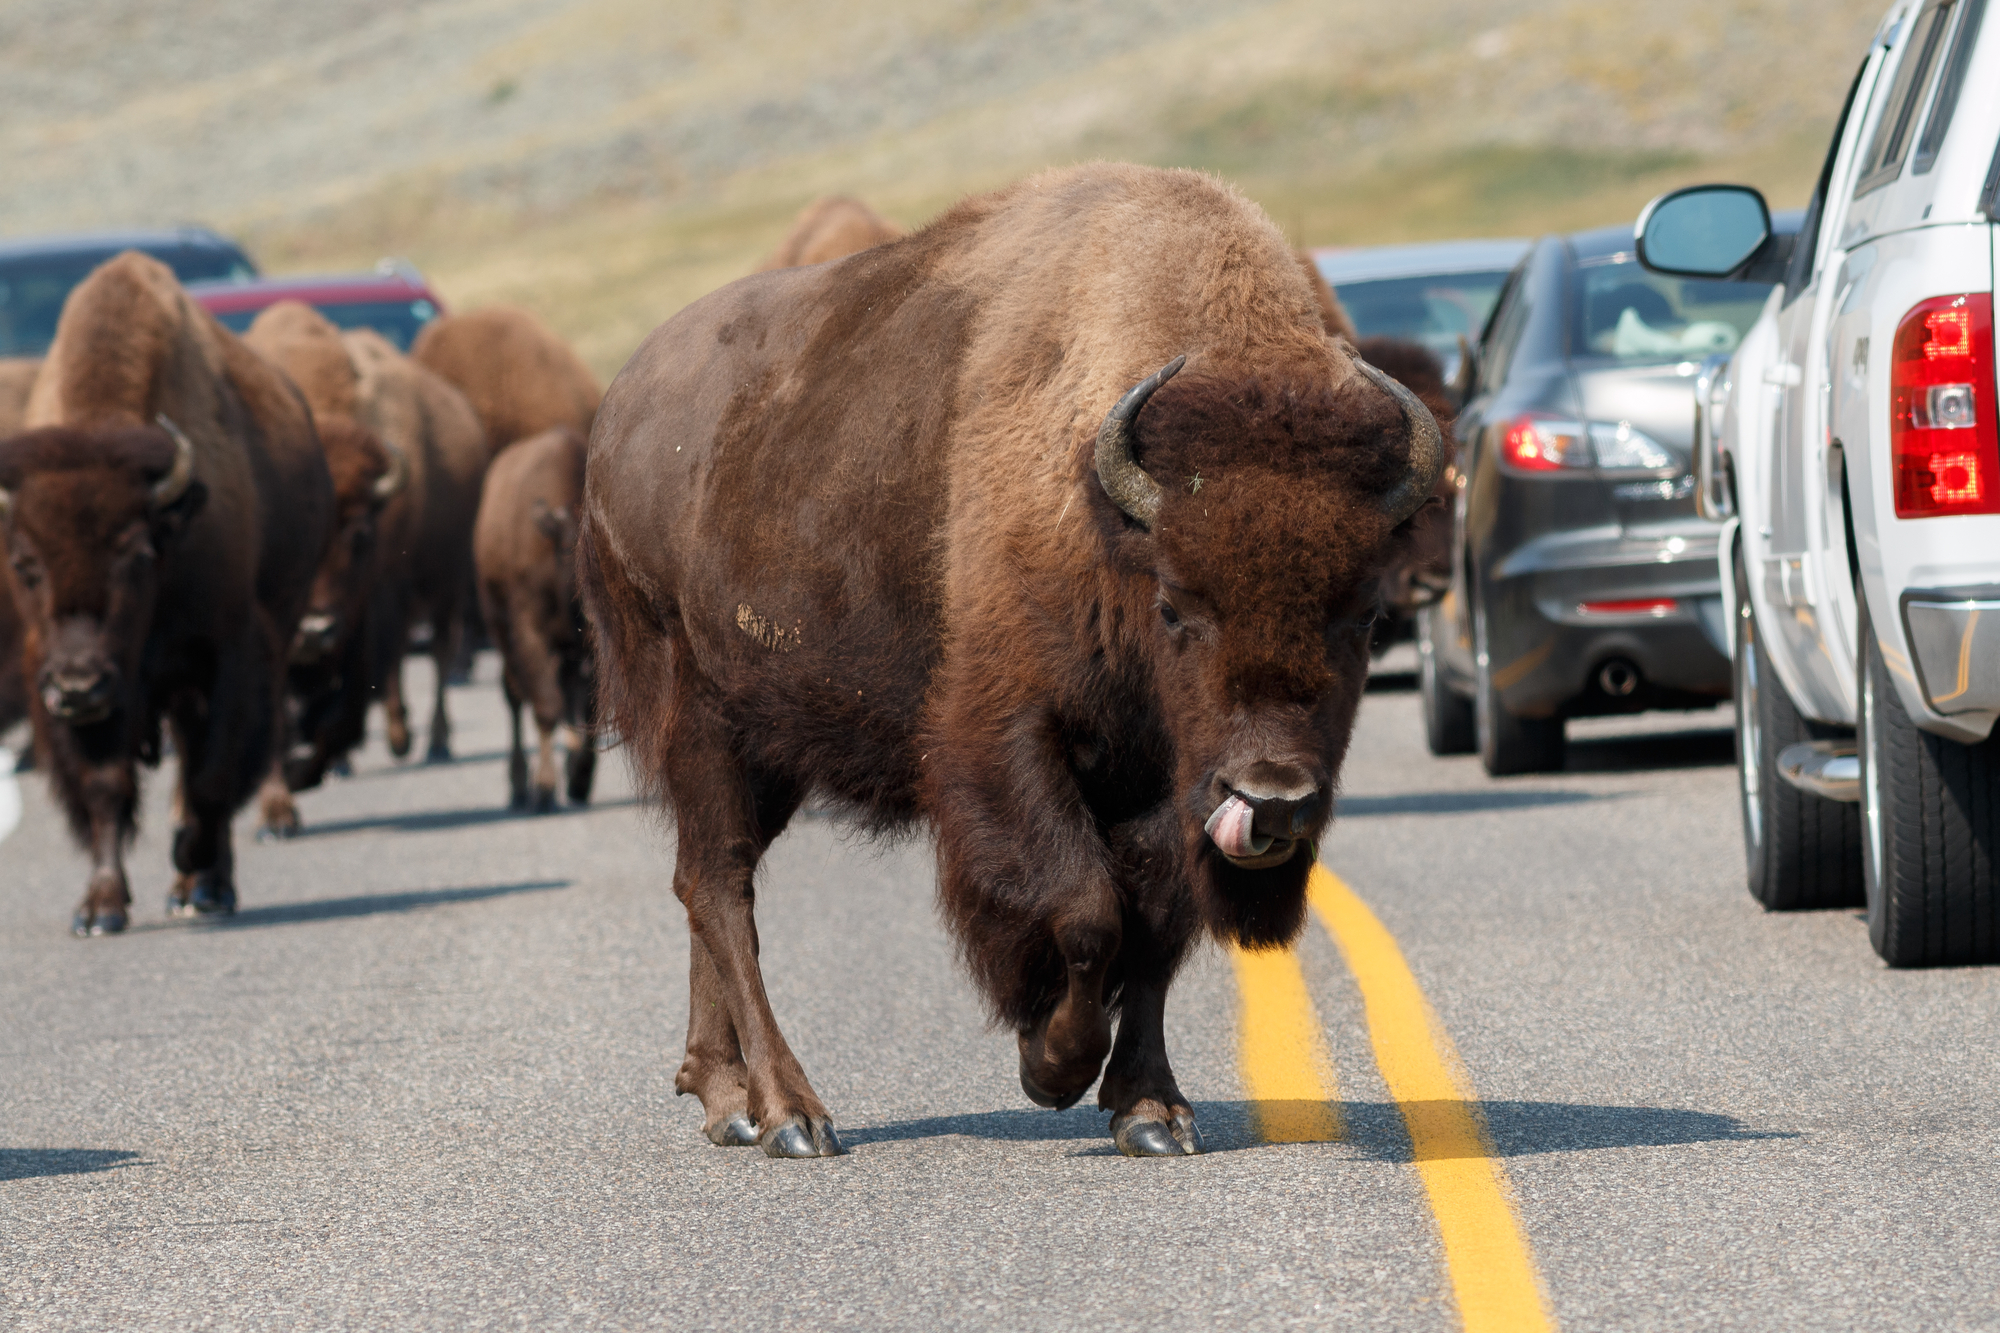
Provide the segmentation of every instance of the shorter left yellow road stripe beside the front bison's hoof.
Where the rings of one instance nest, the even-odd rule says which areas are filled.
[[[1336,1143],[1340,1089],[1306,975],[1290,949],[1230,949],[1236,965],[1238,1063],[1264,1143]]]

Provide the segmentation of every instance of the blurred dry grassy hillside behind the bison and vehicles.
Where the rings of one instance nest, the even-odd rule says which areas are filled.
[[[610,374],[814,194],[914,224],[1082,158],[1302,244],[1802,202],[1882,0],[0,0],[0,232],[200,218],[406,254]]]

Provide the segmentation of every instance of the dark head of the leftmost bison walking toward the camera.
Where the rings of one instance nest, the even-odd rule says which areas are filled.
[[[162,554],[206,494],[194,444],[166,416],[0,444],[0,526],[52,721],[88,727],[136,703]]]

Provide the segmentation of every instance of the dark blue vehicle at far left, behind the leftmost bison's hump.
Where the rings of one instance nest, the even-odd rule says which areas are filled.
[[[70,288],[124,250],[154,256],[182,282],[256,276],[242,246],[200,226],[0,240],[0,356],[46,352]]]

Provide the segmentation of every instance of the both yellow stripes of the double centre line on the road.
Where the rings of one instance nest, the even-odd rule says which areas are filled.
[[[1312,869],[1312,911],[1346,957],[1368,1011],[1376,1069],[1410,1131],[1416,1171],[1444,1243],[1468,1333],[1552,1329],[1534,1255],[1470,1081],[1396,939],[1326,867]],[[1240,1061],[1266,1143],[1344,1135],[1326,1035],[1298,957],[1232,951],[1242,997]]]

